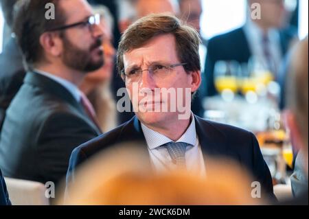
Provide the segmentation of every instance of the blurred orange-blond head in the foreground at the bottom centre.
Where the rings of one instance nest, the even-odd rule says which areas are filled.
[[[115,146],[80,167],[65,205],[262,203],[251,198],[251,179],[234,163],[207,158],[206,168],[206,176],[181,170],[159,174],[135,143]]]

